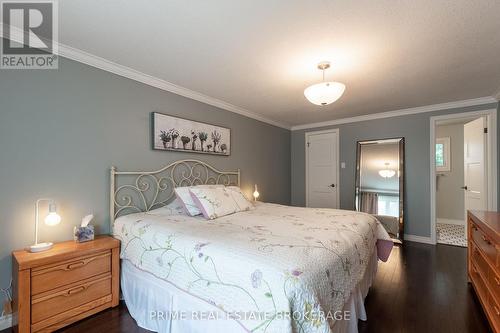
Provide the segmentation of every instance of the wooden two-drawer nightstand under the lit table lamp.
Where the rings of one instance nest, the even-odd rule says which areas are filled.
[[[52,332],[118,305],[120,241],[68,241],[12,252],[15,332]]]

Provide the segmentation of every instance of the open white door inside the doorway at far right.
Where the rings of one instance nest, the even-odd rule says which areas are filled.
[[[488,172],[486,163],[486,118],[464,125],[464,192],[465,211],[487,210]]]

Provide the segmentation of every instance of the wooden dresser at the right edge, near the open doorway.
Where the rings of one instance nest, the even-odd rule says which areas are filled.
[[[469,211],[469,280],[494,332],[500,332],[500,213]]]

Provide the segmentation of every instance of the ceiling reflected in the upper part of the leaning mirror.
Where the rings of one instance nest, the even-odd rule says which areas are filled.
[[[389,163],[389,165],[386,165]],[[399,143],[377,143],[361,146],[360,165],[361,190],[399,193]],[[391,178],[383,178],[379,171],[389,169],[396,171]]]

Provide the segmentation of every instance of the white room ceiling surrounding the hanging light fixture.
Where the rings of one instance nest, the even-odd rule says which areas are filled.
[[[62,44],[286,125],[495,95],[499,31],[498,0],[59,2]]]

